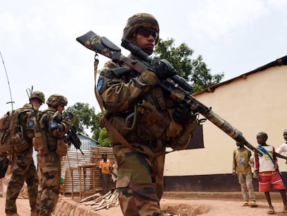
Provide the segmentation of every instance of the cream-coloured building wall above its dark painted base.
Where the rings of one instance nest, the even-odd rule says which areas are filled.
[[[283,142],[287,128],[287,66],[271,67],[221,85],[213,93],[196,96],[214,113],[241,131],[254,147],[256,134],[268,134],[267,144]],[[166,155],[164,176],[227,174],[232,172],[235,140],[207,121],[203,123],[205,149],[176,151]],[[279,159],[281,171],[287,170]]]

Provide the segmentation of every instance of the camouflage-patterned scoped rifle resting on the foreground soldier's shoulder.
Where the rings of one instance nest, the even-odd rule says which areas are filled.
[[[101,37],[93,31],[85,33],[85,35],[76,38],[76,40],[87,49],[112,59],[114,63],[123,65],[123,67],[119,67],[119,69],[114,70],[114,74],[116,76],[121,76],[122,74],[131,72],[132,70],[138,74],[145,72],[147,69],[152,71],[154,70],[152,60],[148,58],[147,54],[144,53],[139,47],[134,46],[128,40],[123,40],[121,45],[125,47],[125,49],[130,50],[134,56],[141,58],[141,60],[134,60],[123,56],[119,47],[117,47],[107,38]],[[169,69],[173,69],[167,60],[165,60],[164,63],[166,63],[166,66]],[[191,85],[186,83],[184,78],[178,75],[173,75],[171,78],[166,78],[166,80],[161,81],[159,86],[168,92],[171,99],[173,99],[175,102],[185,103],[193,113],[200,113],[231,138],[238,142],[242,142],[247,148],[251,149],[252,151],[256,151],[260,156],[263,156],[262,151],[256,149],[252,146],[252,144],[245,140],[241,131],[238,131],[238,129],[234,128],[234,126],[225,121],[225,119],[214,113],[210,107],[205,106],[203,103],[200,103],[200,101],[195,99],[195,97],[190,94],[192,88]],[[281,156],[279,153],[276,153],[276,156],[287,159],[287,157]]]

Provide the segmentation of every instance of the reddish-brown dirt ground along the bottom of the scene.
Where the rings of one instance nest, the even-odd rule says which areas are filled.
[[[60,199],[60,201],[65,200],[71,201],[71,198],[63,197]],[[283,210],[283,203],[280,197],[278,197],[278,193],[272,194],[272,202],[276,211],[275,215],[287,216],[287,213],[281,212]],[[238,193],[235,195],[230,195],[230,193],[220,193],[220,195],[209,193],[205,193],[204,195],[192,193],[167,193],[161,201],[164,213],[180,214],[181,216],[261,216],[266,215],[268,211],[268,204],[262,194],[257,194],[257,203],[259,206],[256,208],[250,208],[249,206],[243,207],[242,203],[243,202],[240,197],[238,198]],[[30,215],[28,199],[17,199],[17,208],[20,216]],[[85,208],[91,207],[87,206]],[[122,215],[119,206],[95,212],[96,213],[94,215],[101,216]],[[5,197],[0,197],[0,215],[5,215]]]

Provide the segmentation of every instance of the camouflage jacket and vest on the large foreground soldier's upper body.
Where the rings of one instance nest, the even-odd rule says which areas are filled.
[[[126,73],[116,77],[105,63],[98,78],[97,90],[103,99],[106,117],[128,142],[162,139],[172,142],[182,132],[182,125],[172,118],[173,101],[159,87],[159,79],[149,70],[139,76]],[[110,135],[111,143],[117,142]]]

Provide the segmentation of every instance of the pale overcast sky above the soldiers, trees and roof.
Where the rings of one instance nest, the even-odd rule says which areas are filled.
[[[0,1],[0,51],[8,73],[14,108],[28,101],[33,85],[100,111],[94,96],[94,53],[76,38],[94,31],[121,47],[125,23],[134,13],[153,14],[160,38],[175,39],[203,57],[224,81],[287,55],[285,0],[10,0]],[[122,53],[128,52],[122,48]],[[107,61],[100,57],[100,65]],[[0,114],[11,109],[3,63]],[[212,106],[212,104],[209,104]],[[46,108],[42,106],[40,109]]]

